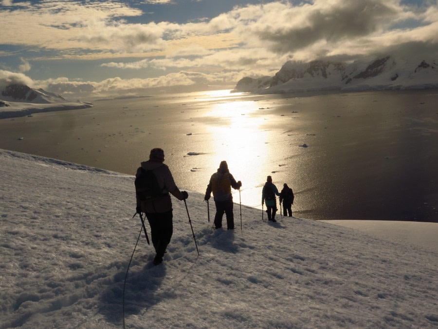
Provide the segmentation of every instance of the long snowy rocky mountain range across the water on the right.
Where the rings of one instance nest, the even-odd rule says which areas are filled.
[[[438,88],[438,61],[418,62],[391,56],[353,63],[288,61],[274,77],[244,77],[235,92],[260,94],[320,90],[392,90]]]

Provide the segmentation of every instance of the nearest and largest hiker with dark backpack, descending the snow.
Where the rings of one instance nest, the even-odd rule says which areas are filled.
[[[146,193],[139,192],[136,183],[137,213],[145,213],[150,225],[152,244],[155,248],[154,265],[163,262],[163,255],[173,233],[172,200],[170,194],[178,200],[185,200],[187,192],[181,192],[173,180],[172,173],[164,163],[164,151],[159,148],[150,151],[149,160],[143,161],[137,169],[136,181],[143,175]],[[157,184],[158,183],[158,184]],[[152,192],[147,192],[152,190]],[[170,193],[170,194],[169,194]],[[147,195],[144,195],[147,194]],[[143,197],[144,196],[144,197]]]

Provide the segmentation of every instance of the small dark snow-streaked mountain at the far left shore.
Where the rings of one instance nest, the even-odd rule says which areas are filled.
[[[50,104],[66,102],[59,95],[49,93],[43,89],[33,89],[26,85],[11,84],[0,87],[0,99],[9,102],[25,102],[33,104]]]

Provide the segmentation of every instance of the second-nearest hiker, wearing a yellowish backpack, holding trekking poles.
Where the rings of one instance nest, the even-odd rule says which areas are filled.
[[[227,217],[227,230],[234,230],[234,214],[233,214],[233,196],[231,195],[231,187],[238,190],[242,186],[240,180],[236,182],[233,175],[228,171],[226,161],[220,162],[219,169],[211,175],[210,182],[205,191],[204,200],[210,199],[213,192],[213,199],[216,205],[215,227],[222,227],[222,217],[225,213]]]

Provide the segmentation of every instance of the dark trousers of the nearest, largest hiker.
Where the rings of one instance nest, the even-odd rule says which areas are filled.
[[[167,245],[173,233],[173,213],[146,213],[147,221],[150,225],[150,235],[157,255],[156,259],[162,260]]]

